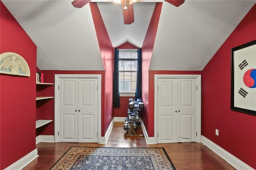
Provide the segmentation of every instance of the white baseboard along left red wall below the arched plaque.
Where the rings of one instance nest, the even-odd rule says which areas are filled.
[[[21,170],[22,168],[24,168],[26,165],[28,165],[30,162],[32,162],[32,160],[36,159],[37,157],[38,157],[37,149],[35,149],[32,152],[30,152],[29,154],[27,154],[26,156],[24,156],[23,158],[21,158],[20,160],[14,162],[13,164],[11,164],[7,168],[5,168],[4,170]]]

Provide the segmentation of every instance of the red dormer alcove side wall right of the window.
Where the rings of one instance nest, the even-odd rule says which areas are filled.
[[[150,59],[152,56],[152,51],[154,47],[154,42],[156,38],[156,31],[158,27],[158,22],[161,14],[162,2],[157,2],[150,20],[148,30],[144,42],[142,44],[142,101],[144,103],[144,111],[142,114],[142,121],[145,125],[145,128],[148,132],[148,136],[154,136],[154,117],[150,117],[150,108],[149,106],[149,65]],[[154,82],[154,81],[152,81]],[[152,83],[151,82],[151,83]],[[154,101],[152,103],[154,105]],[[152,121],[153,120],[153,121]],[[153,123],[153,124],[152,124]],[[153,125],[153,129],[152,129]]]

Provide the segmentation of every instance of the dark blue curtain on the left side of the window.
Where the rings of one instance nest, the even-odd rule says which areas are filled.
[[[119,62],[119,50],[115,49],[114,53],[114,73],[113,73],[113,107],[120,107],[120,95],[119,95],[119,82],[118,82],[118,62]]]

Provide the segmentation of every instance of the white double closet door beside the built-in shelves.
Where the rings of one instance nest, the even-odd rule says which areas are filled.
[[[98,142],[97,86],[97,78],[60,78],[60,142]]]

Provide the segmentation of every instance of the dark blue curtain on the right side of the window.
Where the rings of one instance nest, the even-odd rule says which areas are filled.
[[[142,53],[141,48],[138,49],[137,63],[137,85],[135,91],[135,100],[142,99]]]

